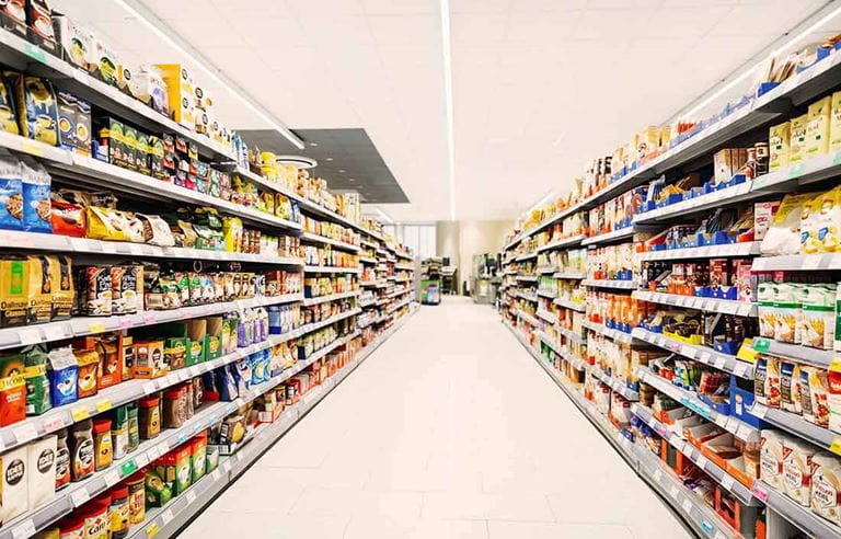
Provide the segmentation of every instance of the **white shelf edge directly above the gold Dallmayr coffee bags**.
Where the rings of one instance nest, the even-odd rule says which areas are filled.
[[[270,256],[267,254],[234,253],[177,246],[158,246],[128,241],[103,241],[39,232],[0,230],[0,249],[33,249],[78,254],[114,254],[118,256],[148,256],[157,259],[215,260],[221,262],[255,262],[302,266],[300,259]]]

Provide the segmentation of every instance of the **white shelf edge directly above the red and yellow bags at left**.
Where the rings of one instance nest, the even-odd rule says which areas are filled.
[[[0,31],[3,33],[3,31]],[[118,192],[131,193],[146,198],[153,197],[155,202],[172,200],[211,206],[226,214],[243,220],[268,225],[280,229],[298,232],[301,226],[297,222],[275,217],[272,214],[233,204],[197,191],[181,187],[174,183],[164,182],[128,169],[100,161],[92,157],[71,154],[70,164],[57,161],[45,161],[45,165],[58,171],[58,175],[79,180],[96,187],[110,187]]]

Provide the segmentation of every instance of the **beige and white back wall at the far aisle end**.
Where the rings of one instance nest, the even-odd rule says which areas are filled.
[[[514,221],[437,221],[436,248],[438,256],[449,256],[459,266],[459,284],[470,280],[473,256],[497,253],[503,249],[506,234]]]

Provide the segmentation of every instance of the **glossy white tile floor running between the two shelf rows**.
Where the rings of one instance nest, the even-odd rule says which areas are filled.
[[[423,307],[182,537],[691,536],[492,308],[447,298]]]

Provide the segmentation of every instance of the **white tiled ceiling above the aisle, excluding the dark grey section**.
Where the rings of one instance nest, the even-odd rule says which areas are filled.
[[[666,121],[827,3],[449,1],[458,219],[514,218],[568,190],[592,158]],[[178,60],[116,1],[53,3],[131,61]],[[289,127],[365,129],[411,200],[381,205],[393,219],[449,219],[439,0],[134,3]],[[222,122],[267,127],[206,85]]]

